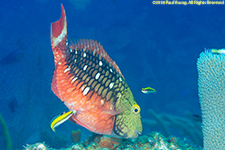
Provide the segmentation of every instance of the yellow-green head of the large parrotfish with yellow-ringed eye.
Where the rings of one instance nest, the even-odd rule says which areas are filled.
[[[135,102],[134,97],[129,92],[121,96],[117,111],[122,111],[116,115],[114,124],[114,134],[121,138],[134,139],[142,133],[141,108]]]

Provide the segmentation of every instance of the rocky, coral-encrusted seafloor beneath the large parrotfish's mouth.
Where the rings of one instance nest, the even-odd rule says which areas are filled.
[[[45,143],[27,144],[25,150],[56,150]],[[194,145],[170,137],[165,138],[162,134],[152,132],[148,135],[139,136],[137,139],[117,139],[105,135],[93,134],[86,141],[78,142],[68,148],[60,150],[196,150]]]

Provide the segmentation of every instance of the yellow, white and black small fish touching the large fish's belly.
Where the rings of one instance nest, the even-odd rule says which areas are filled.
[[[68,120],[73,114],[76,114],[76,111],[69,111],[53,118],[53,121],[50,125],[52,131],[55,132],[55,128],[60,124],[64,123],[66,120]]]

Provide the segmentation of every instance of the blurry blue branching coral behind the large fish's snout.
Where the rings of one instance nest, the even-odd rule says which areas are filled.
[[[169,128],[175,127],[185,133],[194,143],[202,146],[202,128],[201,122],[193,121],[189,118],[182,118],[169,114],[156,114],[149,109],[148,114],[153,119],[142,119],[143,124],[149,127],[159,126],[166,137],[171,135]]]

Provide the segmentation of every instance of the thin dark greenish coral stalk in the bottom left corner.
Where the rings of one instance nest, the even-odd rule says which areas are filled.
[[[0,114],[0,124],[2,125],[3,131],[4,131],[4,135],[6,139],[6,148],[7,150],[12,150],[12,141],[10,138],[9,130],[1,114]]]

